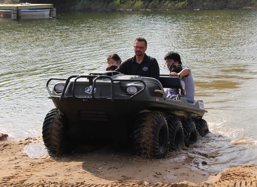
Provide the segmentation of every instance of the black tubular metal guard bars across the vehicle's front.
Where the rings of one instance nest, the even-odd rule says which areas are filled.
[[[75,77],[76,77],[76,78],[75,78]],[[67,86],[68,86],[68,84],[69,84],[69,82],[70,82],[70,80],[71,80],[72,78],[75,78],[75,80],[74,80],[74,82],[73,82],[73,86],[72,86],[72,98],[74,98],[74,99],[84,99],[84,100],[99,99],[99,98],[97,98],[97,97],[94,96],[94,89],[95,89],[95,86],[96,86],[96,80],[97,80],[97,79],[100,79],[100,78],[107,78],[107,79],[110,79],[110,81],[111,81],[111,98],[104,98],[104,97],[101,97],[101,98],[104,98],[104,99],[110,99],[111,102],[114,102],[114,99],[117,99],[117,100],[130,100],[130,99],[132,99],[133,97],[137,96],[138,94],[140,94],[141,92],[143,92],[143,91],[146,89],[146,83],[145,83],[144,81],[142,81],[142,80],[139,80],[139,79],[134,79],[134,80],[131,80],[131,79],[113,80],[110,76],[105,76],[105,75],[99,75],[99,76],[97,76],[97,75],[72,75],[72,76],[70,76],[70,77],[67,78],[67,79],[50,78],[50,79],[47,81],[47,91],[49,92],[50,96],[51,96],[52,98],[60,98],[61,101],[62,101],[63,98],[71,98],[71,97],[64,96],[64,93],[65,93],[66,88],[67,88]],[[93,83],[93,85],[92,85],[92,93],[91,93],[92,98],[88,98],[88,97],[76,97],[76,96],[75,96],[75,86],[76,86],[77,79],[79,79],[79,78],[89,78],[89,84],[90,84],[90,82]],[[94,78],[94,81],[92,81],[93,78]],[[90,79],[91,79],[91,81],[90,81]],[[65,82],[65,85],[64,85],[64,88],[63,88],[63,90],[62,90],[61,96],[53,96],[53,95],[52,95],[52,91],[50,91],[50,89],[49,89],[49,87],[48,87],[49,82],[52,81],[52,80],[66,81],[66,82]],[[115,98],[115,97],[114,97],[114,81],[115,81],[115,82],[122,82],[122,81],[124,81],[124,82],[125,82],[125,81],[127,81],[127,82],[142,82],[143,85],[144,85],[144,88],[143,88],[142,90],[136,92],[134,95],[132,95],[132,96],[130,96],[130,97],[128,97],[128,98]]]

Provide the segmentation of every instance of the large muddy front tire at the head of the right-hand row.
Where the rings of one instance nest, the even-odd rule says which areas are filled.
[[[145,112],[138,116],[133,129],[134,153],[139,156],[165,156],[168,149],[168,125],[158,112]]]

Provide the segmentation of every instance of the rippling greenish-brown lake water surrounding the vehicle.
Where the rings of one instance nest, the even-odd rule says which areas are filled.
[[[145,37],[146,54],[161,74],[163,57],[181,55],[202,99],[210,133],[183,151],[214,172],[257,164],[257,10],[57,12],[57,18],[0,18],[0,132],[12,140],[42,135],[54,108],[47,99],[51,77],[105,70],[107,55],[134,56]]]

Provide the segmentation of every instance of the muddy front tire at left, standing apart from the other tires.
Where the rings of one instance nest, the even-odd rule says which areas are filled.
[[[68,139],[68,121],[63,112],[52,109],[45,117],[42,137],[47,150],[54,154],[64,154],[70,151]]]

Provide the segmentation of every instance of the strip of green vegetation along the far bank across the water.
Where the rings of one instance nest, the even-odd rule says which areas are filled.
[[[0,0],[1,3],[28,2],[54,4],[70,10],[166,10],[166,9],[236,9],[257,7],[257,0]]]

